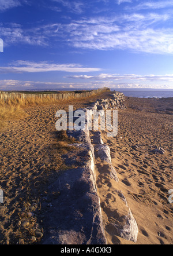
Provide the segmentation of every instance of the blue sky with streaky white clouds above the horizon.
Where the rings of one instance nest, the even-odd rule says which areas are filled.
[[[0,90],[173,89],[172,0],[0,0]]]

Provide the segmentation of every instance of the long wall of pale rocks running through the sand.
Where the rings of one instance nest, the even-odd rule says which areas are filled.
[[[109,108],[125,109],[122,93],[114,93],[112,98],[98,100],[88,109],[100,110]],[[52,203],[48,214],[47,231],[43,244],[107,244],[104,224],[101,215],[99,195],[97,194],[95,159],[110,165],[110,178],[119,182],[116,170],[112,166],[110,147],[103,143],[100,131],[89,130],[67,131],[68,136],[76,138],[80,143],[72,144],[76,151],[64,155],[66,164],[77,164],[76,169],[70,169],[60,175],[57,181],[49,187],[50,193],[60,190],[57,199]],[[123,239],[137,242],[138,226],[127,204],[122,191],[115,191],[118,216],[112,227],[115,235]],[[121,210],[118,209],[121,206]],[[44,207],[44,206],[43,206]]]

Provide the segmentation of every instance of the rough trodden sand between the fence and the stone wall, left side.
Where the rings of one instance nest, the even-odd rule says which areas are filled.
[[[99,96],[61,101],[52,105],[37,105],[24,109],[26,116],[8,120],[0,130],[0,244],[39,243],[35,231],[43,233],[40,198],[47,197],[47,186],[60,170],[65,170],[61,148],[57,147],[55,113],[88,107]],[[47,199],[47,203],[50,199]],[[34,214],[34,215],[33,215]]]

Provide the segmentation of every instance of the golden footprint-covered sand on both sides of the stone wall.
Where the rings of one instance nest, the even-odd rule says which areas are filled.
[[[108,97],[104,94],[104,97]],[[103,98],[103,96],[99,96]],[[95,101],[91,97],[89,101]],[[10,120],[0,131],[0,244],[40,243],[44,223],[40,198],[47,196],[47,186],[59,175],[56,148],[55,112],[86,107],[88,99],[61,105],[43,105],[25,109],[22,120]],[[134,244],[115,236],[109,228],[116,205],[114,189],[125,195],[136,218],[139,234],[136,244],[172,244],[173,205],[168,203],[172,182],[172,99],[126,98],[126,110],[118,111],[118,136],[107,137],[112,165],[118,174],[115,182],[99,173],[97,189],[108,244]],[[137,147],[133,147],[137,145]],[[161,147],[164,154],[152,149]],[[35,238],[35,230],[39,235]]]

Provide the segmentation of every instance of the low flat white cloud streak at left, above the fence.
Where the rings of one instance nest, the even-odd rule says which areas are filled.
[[[35,73],[49,71],[65,71],[65,72],[93,72],[99,71],[100,68],[82,67],[80,64],[55,64],[48,61],[35,63],[32,61],[16,61],[7,67],[0,67],[0,74],[5,73]]]

